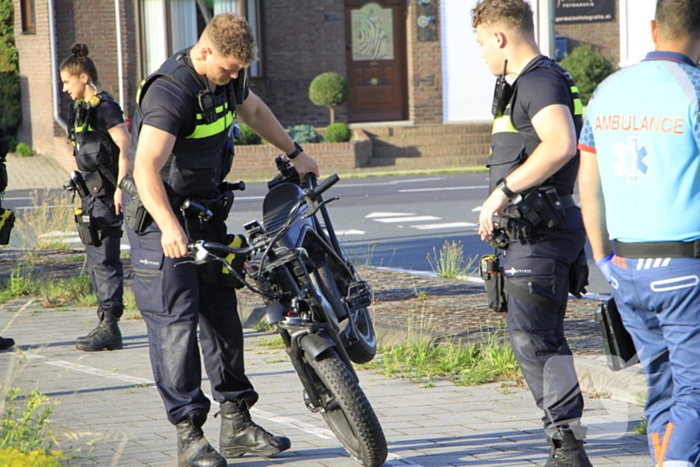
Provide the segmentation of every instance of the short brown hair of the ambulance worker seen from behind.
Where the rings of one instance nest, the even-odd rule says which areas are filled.
[[[700,38],[700,0],[659,0],[654,19],[664,38]]]

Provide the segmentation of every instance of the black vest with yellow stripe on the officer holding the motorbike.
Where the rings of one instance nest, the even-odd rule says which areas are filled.
[[[231,170],[233,142],[229,135],[236,118],[235,80],[224,92],[211,93],[195,71],[183,63],[190,49],[183,50],[146,78],[136,94],[136,112],[132,131],[132,153],[135,155],[143,123],[141,103],[149,86],[156,79],[170,79],[190,96],[196,109],[194,131],[178,136],[172,154],[160,172],[171,201],[194,197],[215,198],[218,187]]]

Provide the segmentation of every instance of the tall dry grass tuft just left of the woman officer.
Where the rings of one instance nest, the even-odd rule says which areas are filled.
[[[68,249],[67,238],[75,235],[73,203],[63,194],[43,196],[39,204],[39,193],[32,193],[31,209],[18,214],[17,229],[27,249]]]

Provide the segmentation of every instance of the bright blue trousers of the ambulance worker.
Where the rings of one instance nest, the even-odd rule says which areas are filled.
[[[647,379],[652,458],[668,436],[664,466],[700,466],[700,259],[612,263],[612,294]]]

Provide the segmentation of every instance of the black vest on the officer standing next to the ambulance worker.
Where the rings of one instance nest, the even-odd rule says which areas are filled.
[[[520,78],[538,68],[548,68],[554,70],[561,75],[569,86],[571,100],[573,104],[573,120],[576,128],[576,139],[578,140],[583,127],[583,104],[578,88],[571,78],[571,75],[562,67],[552,62],[546,57],[540,57],[530,63],[520,73],[518,79],[513,83],[513,90],[508,105],[506,106],[503,115],[496,116],[493,121],[491,154],[486,160],[486,167],[489,168],[489,177],[491,182],[490,191],[496,188],[496,184],[502,178],[508,176],[515,169],[520,167],[530,154],[539,146],[541,140],[537,137],[534,130],[518,131],[513,125],[512,111],[513,103],[518,95],[518,81]],[[578,174],[579,155],[572,158],[564,165],[557,173],[545,180],[540,187],[554,187],[560,195],[570,195],[574,192],[574,184]]]

